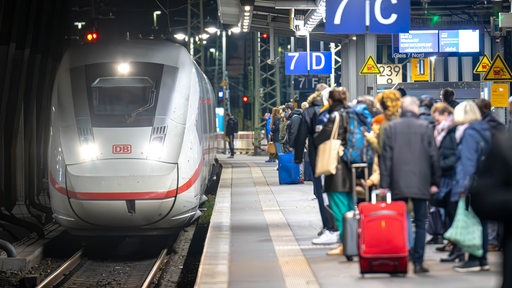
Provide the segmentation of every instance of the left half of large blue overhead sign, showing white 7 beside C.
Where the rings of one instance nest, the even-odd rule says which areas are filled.
[[[361,0],[326,0],[325,32],[328,34],[366,33],[365,6],[365,1]]]

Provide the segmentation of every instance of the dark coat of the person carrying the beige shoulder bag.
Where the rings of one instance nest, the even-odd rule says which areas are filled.
[[[343,125],[344,121],[342,119],[342,111],[343,107],[339,103],[334,103],[329,107],[329,118],[327,123],[323,126],[322,130],[317,133],[315,136],[315,145],[318,147],[323,142],[329,140],[331,138],[332,129],[334,127],[334,121],[336,119],[336,114],[339,115],[339,127],[338,127],[338,139],[341,140],[342,145],[346,145],[346,134],[347,127]],[[334,175],[326,175],[324,181],[324,191],[325,192],[348,192],[351,191],[350,179],[352,178],[352,172],[349,167],[349,164],[343,160],[342,157],[339,158],[338,166],[336,167],[336,174]]]

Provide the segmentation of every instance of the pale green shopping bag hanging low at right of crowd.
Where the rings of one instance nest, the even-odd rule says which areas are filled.
[[[453,219],[452,226],[444,233],[444,238],[457,244],[463,251],[477,257],[484,253],[482,249],[482,223],[471,209],[471,206],[466,205],[464,197],[459,199],[455,219]]]

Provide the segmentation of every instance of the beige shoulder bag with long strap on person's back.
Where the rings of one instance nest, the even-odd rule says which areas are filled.
[[[343,155],[343,146],[341,146],[341,140],[338,139],[339,125],[340,118],[339,114],[336,113],[331,138],[318,146],[315,177],[336,173],[336,165],[338,165],[339,158]]]

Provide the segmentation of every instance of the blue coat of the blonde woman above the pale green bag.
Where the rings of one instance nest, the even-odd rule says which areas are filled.
[[[485,157],[491,143],[491,132],[485,121],[475,121],[464,130],[457,148],[457,166],[451,201],[458,201],[461,193],[467,193],[480,160]]]

